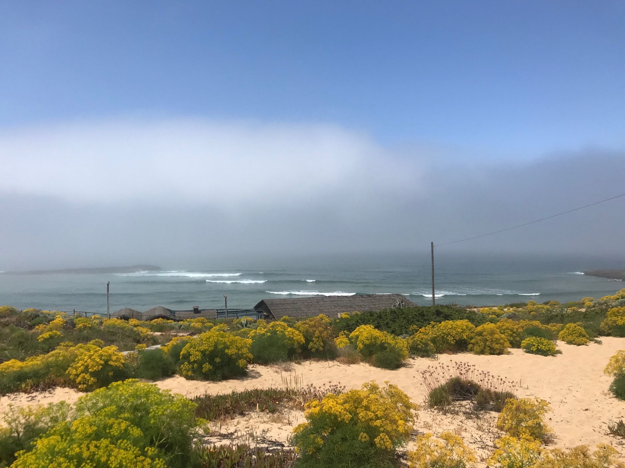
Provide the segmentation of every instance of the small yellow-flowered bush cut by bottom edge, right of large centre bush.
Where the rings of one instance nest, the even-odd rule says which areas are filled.
[[[439,440],[440,439],[440,440]],[[417,436],[416,447],[408,452],[410,468],[465,468],[476,462],[475,452],[453,432],[442,432],[438,439],[427,433]]]

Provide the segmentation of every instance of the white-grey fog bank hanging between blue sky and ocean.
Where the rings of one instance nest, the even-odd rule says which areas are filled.
[[[447,154],[447,156],[446,156]],[[0,132],[0,270],[427,252],[623,190],[625,152],[523,162],[322,124],[113,120]],[[449,252],[622,256],[625,197]]]

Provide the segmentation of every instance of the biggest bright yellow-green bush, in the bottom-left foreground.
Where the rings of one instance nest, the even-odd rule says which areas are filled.
[[[80,397],[74,419],[46,432],[13,467],[187,467],[197,436],[194,409],[156,385],[116,382]]]

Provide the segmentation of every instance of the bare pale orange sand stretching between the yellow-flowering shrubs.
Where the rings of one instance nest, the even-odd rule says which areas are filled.
[[[523,353],[521,349],[512,349],[511,353],[505,356],[476,356],[463,353],[441,355],[439,359],[442,362],[475,364],[479,370],[490,371],[520,384],[519,396],[538,396],[549,401],[552,411],[547,417],[556,435],[554,445],[594,446],[599,442],[605,442],[619,449],[625,456],[623,442],[606,435],[608,422],[625,419],[625,402],[615,399],[607,392],[611,378],[603,374],[610,356],[618,349],[625,349],[625,338],[602,338],[602,341],[601,345],[589,346],[569,346],[558,342],[562,354],[554,358],[535,356]],[[291,366],[291,371],[280,366],[252,366],[246,378],[219,383],[188,381],[175,376],[157,384],[160,388],[192,397],[206,392],[214,394],[282,386],[282,378],[289,378],[289,375],[292,377],[293,374],[301,376],[303,384],[321,386],[324,383],[341,383],[347,389],[359,388],[362,383],[375,379],[380,383],[390,381],[396,384],[413,401],[421,404],[424,401],[425,391],[419,382],[418,372],[432,363],[436,361],[412,359],[405,368],[386,371],[367,364],[344,365],[336,362],[305,361]],[[61,399],[73,402],[80,394],[71,389],[55,389],[42,394],[12,394],[0,398],[0,414],[6,411],[9,402],[16,405],[47,403]],[[421,411],[417,429],[420,432],[435,433],[456,429],[457,432],[464,432],[463,436],[473,437],[475,427],[487,423],[487,426],[492,427],[491,420],[492,417],[487,417],[486,421],[476,422],[462,416],[442,416],[436,412]],[[241,429],[239,421],[227,426],[228,429],[230,427]],[[280,426],[284,424],[281,423]],[[479,445],[477,442],[476,444]]]

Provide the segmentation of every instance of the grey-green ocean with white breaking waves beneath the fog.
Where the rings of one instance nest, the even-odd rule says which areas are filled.
[[[478,256],[436,252],[439,304],[498,305],[601,297],[624,288],[622,281],[583,275],[584,270],[624,269],[614,258],[570,256]],[[401,293],[419,305],[431,304],[431,270],[426,252],[393,255],[333,255],[213,261],[161,265],[135,273],[0,273],[0,305],[19,309],[111,312],[154,306],[252,308],[265,298]]]

